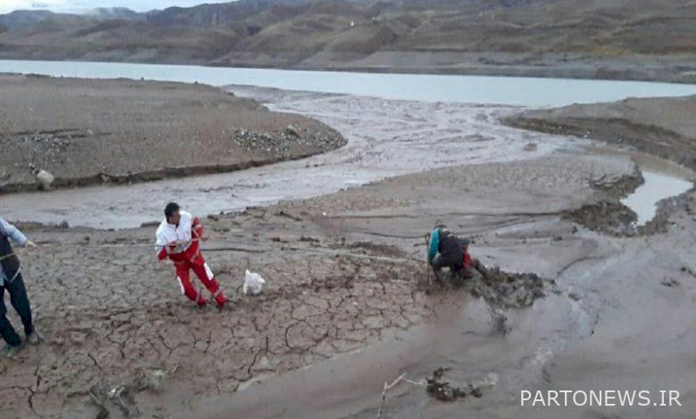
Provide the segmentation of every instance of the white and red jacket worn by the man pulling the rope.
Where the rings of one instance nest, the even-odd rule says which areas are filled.
[[[168,223],[165,218],[157,227],[157,258],[163,260],[169,257],[175,263],[195,263],[202,259],[199,256],[203,226],[189,212],[180,210],[179,215],[178,225]]]

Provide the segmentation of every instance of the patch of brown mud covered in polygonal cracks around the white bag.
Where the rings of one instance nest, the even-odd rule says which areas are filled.
[[[199,310],[177,295],[170,267],[156,268],[150,251],[134,259],[128,248],[58,247],[27,263],[26,275],[41,278],[29,290],[46,342],[4,373],[12,383],[0,386],[4,411],[18,417],[60,412],[94,387],[132,385],[153,366],[178,366],[172,379],[190,383],[192,397],[231,392],[429,316],[406,265],[278,249],[244,260],[211,253],[231,301]],[[258,298],[238,292],[245,264],[272,278]]]

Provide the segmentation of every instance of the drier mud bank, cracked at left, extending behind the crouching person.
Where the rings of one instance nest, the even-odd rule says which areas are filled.
[[[626,160],[559,155],[395,177],[207,218],[203,249],[235,247],[205,251],[231,298],[224,310],[194,308],[178,294],[173,268],[155,261],[152,227],[24,226],[41,243],[21,258],[45,342],[5,366],[0,406],[14,417],[95,417],[100,409],[91,391],[112,417],[180,415],[195,409],[195,401],[229,397],[270,376],[365,348],[387,332],[435,319],[443,293],[418,291],[427,267],[415,260],[435,219],[474,236],[489,249],[475,244],[475,256],[498,264],[504,252],[492,253],[493,242],[509,240],[497,238],[499,232],[560,222],[562,210],[595,193],[588,180],[633,170]],[[569,246],[574,252],[576,244]],[[269,280],[257,298],[241,295],[245,268]],[[464,291],[450,293],[455,305],[468,300]],[[153,370],[168,374],[162,389],[109,398],[108,390],[135,389]]]

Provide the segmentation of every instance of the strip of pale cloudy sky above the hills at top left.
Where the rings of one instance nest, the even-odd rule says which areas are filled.
[[[0,13],[13,10],[51,10],[85,12],[95,7],[128,7],[137,12],[170,6],[194,6],[202,3],[228,3],[230,0],[0,0]]]

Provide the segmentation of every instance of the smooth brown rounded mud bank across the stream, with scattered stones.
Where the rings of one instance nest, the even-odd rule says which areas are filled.
[[[232,171],[334,150],[343,136],[211,86],[0,76],[0,192]]]

